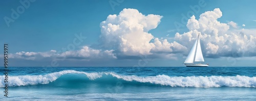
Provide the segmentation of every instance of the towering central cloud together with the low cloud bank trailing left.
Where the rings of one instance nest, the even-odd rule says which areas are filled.
[[[143,15],[136,9],[123,9],[118,15],[109,15],[105,21],[100,23],[101,44],[109,50],[83,46],[74,51],[17,52],[11,55],[13,58],[28,60],[42,57],[82,60],[116,59],[138,58],[142,55],[147,55],[149,58],[177,59],[174,53],[187,52],[186,47],[175,41],[169,43],[167,39],[156,38],[148,32],[158,26],[162,17],[154,14]]]

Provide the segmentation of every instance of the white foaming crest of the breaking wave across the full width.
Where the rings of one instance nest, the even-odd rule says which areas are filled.
[[[90,81],[99,80],[100,78],[109,78],[123,80],[124,82],[137,82],[143,85],[150,83],[153,85],[162,85],[170,87],[256,87],[256,77],[247,76],[188,76],[188,77],[169,77],[166,75],[140,77],[135,75],[120,75],[114,72],[97,72],[87,73],[74,70],[65,70],[46,75],[24,75],[24,76],[9,76],[9,86],[26,86],[37,84],[49,84],[58,78],[67,74],[82,74],[86,75],[86,79]],[[75,77],[74,77],[75,78]],[[0,77],[0,87],[4,87],[5,76]],[[104,82],[105,83],[105,80]]]

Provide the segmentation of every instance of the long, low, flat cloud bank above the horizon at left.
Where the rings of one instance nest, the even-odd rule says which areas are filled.
[[[99,59],[99,58],[113,58],[116,56],[113,53],[114,50],[97,50],[92,49],[88,46],[83,46],[80,50],[76,51],[66,51],[66,52],[57,52],[56,50],[50,50],[47,52],[17,52],[15,54],[10,54],[9,58],[20,58],[27,60],[38,60],[42,58],[61,58],[61,59]]]

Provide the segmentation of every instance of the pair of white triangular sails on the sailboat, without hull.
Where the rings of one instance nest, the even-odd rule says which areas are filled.
[[[184,63],[204,62],[199,35]]]

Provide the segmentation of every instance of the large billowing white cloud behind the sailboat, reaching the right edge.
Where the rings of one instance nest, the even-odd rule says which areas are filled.
[[[222,12],[217,8],[201,14],[198,20],[195,16],[190,17],[187,22],[189,31],[183,34],[177,32],[175,40],[190,49],[200,33],[201,45],[204,47],[202,50],[207,57],[255,56],[256,51],[251,51],[255,49],[256,41],[253,32],[245,33],[246,29],[232,30],[229,26],[238,28],[237,23],[221,23],[218,21],[221,16]]]

